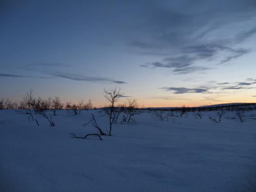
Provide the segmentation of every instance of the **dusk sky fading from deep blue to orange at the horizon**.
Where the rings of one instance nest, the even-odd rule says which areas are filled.
[[[256,102],[255,0],[2,0],[0,98]]]

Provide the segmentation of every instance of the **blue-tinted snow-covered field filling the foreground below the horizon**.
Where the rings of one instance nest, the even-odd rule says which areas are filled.
[[[48,112],[52,114],[52,112]],[[255,192],[256,111],[246,122],[227,119],[136,116],[137,124],[112,126],[112,136],[70,138],[97,133],[94,114],[106,132],[109,121],[97,110],[69,116],[65,110],[47,119],[1,110],[0,192]],[[171,121],[170,121],[171,120]]]

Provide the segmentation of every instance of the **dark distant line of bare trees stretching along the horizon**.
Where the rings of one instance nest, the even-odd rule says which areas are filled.
[[[53,110],[55,115],[56,110],[71,110],[75,114],[81,112],[81,110],[88,110],[93,108],[92,101],[89,100],[87,103],[84,103],[83,100],[80,100],[78,104],[70,102],[66,102],[63,104],[59,97],[55,96],[55,98],[49,97],[48,99],[42,99],[40,96],[35,98],[32,95],[33,89],[30,89],[29,92],[26,93],[26,96],[23,97],[23,100],[19,102],[12,103],[9,99],[0,99],[0,110],[1,109],[28,109],[33,110],[34,113],[42,112],[44,110]],[[130,101],[129,101],[130,102]],[[128,103],[129,103],[128,102]],[[134,102],[134,101],[133,101]],[[137,104],[137,102],[136,102]],[[131,104],[130,104],[131,105]],[[137,104],[138,105],[138,104]],[[124,110],[125,106],[119,105],[121,111]],[[143,106],[133,106],[133,108],[140,108],[140,110],[144,112],[151,112],[153,110],[162,110],[162,111],[183,111],[183,112],[206,112],[206,111],[232,111],[234,108],[240,108],[242,110],[256,110],[256,103],[235,103],[235,104],[220,104],[214,106],[201,106],[201,107],[186,107],[182,105],[181,107],[172,107],[172,108],[141,108]],[[101,107],[102,108],[102,107]],[[97,109],[94,107],[94,109]]]

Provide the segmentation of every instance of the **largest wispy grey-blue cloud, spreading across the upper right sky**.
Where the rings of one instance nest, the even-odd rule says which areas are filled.
[[[212,69],[198,66],[201,60],[206,65],[207,61],[222,65],[252,52],[239,44],[256,35],[256,27],[251,24],[244,30],[245,23],[256,17],[255,4],[241,1],[230,6],[226,1],[216,1],[204,4],[203,9],[197,7],[202,6],[200,1],[188,4],[180,4],[182,9],[175,10],[168,4],[168,9],[157,6],[137,28],[138,35],[128,41],[128,46],[137,48],[138,53],[164,56],[147,63],[148,66],[173,68],[176,74],[187,74]],[[191,11],[195,9],[198,11]],[[231,26],[233,22],[235,27]]]

